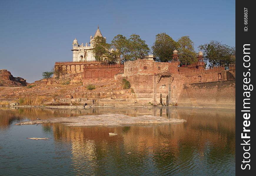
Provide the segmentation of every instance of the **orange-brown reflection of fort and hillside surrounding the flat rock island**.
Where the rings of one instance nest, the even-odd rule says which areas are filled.
[[[222,157],[227,153],[235,155],[235,111],[233,109],[205,109],[189,107],[161,108],[93,108],[93,109],[48,109],[20,108],[0,109],[0,126],[8,127],[12,121],[22,119],[47,119],[60,116],[79,116],[91,114],[118,113],[129,116],[144,114],[167,118],[186,119],[180,124],[149,124],[115,127],[69,127],[59,123],[43,124],[43,130],[52,131],[56,143],[72,145],[72,162],[77,172],[83,165],[89,165],[91,172],[97,172],[102,160],[113,156],[112,164],[125,160],[132,162],[144,160],[150,156],[156,165],[187,158],[205,159]],[[110,137],[109,132],[118,133]],[[57,146],[57,145],[56,145]],[[127,159],[131,152],[135,158]],[[195,153],[198,156],[195,156]],[[137,158],[136,158],[137,157]],[[170,161],[171,160],[171,161]],[[146,162],[146,161],[145,161]]]

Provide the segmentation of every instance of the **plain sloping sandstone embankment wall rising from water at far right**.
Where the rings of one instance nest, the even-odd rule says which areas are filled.
[[[235,108],[235,80],[184,84],[178,105]]]

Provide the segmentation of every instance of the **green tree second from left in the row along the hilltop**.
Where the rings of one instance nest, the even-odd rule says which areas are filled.
[[[125,59],[126,55],[129,53],[128,50],[128,40],[125,36],[118,34],[111,41],[111,46],[115,49],[113,55],[117,57],[119,63],[121,63],[121,55]]]

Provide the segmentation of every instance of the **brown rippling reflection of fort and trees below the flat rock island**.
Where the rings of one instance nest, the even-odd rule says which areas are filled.
[[[81,162],[97,165],[98,170],[94,170],[94,173],[100,173],[101,169],[107,167],[109,168],[106,170],[117,166],[125,167],[122,163],[128,168],[134,165],[143,168],[151,162],[159,170],[176,170],[189,165],[198,167],[208,160],[209,165],[220,166],[225,165],[231,155],[235,156],[235,130],[221,129],[225,125],[215,127],[215,132],[195,128],[195,124],[189,122],[119,127],[51,125],[55,140],[72,143],[72,160],[74,164],[77,163],[77,169]],[[109,132],[118,135],[109,137]],[[129,152],[132,153],[131,156],[127,154]],[[82,158],[93,158],[94,161],[85,162]],[[162,170],[162,173],[167,173],[167,170]]]

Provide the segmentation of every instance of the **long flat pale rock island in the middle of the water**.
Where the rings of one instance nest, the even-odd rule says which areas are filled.
[[[181,123],[184,119],[165,119],[163,117],[144,115],[131,117],[124,114],[101,114],[77,117],[59,117],[46,120],[33,120],[16,123],[15,125],[29,125],[40,123],[62,123],[67,126],[122,126],[122,124],[136,123]]]

